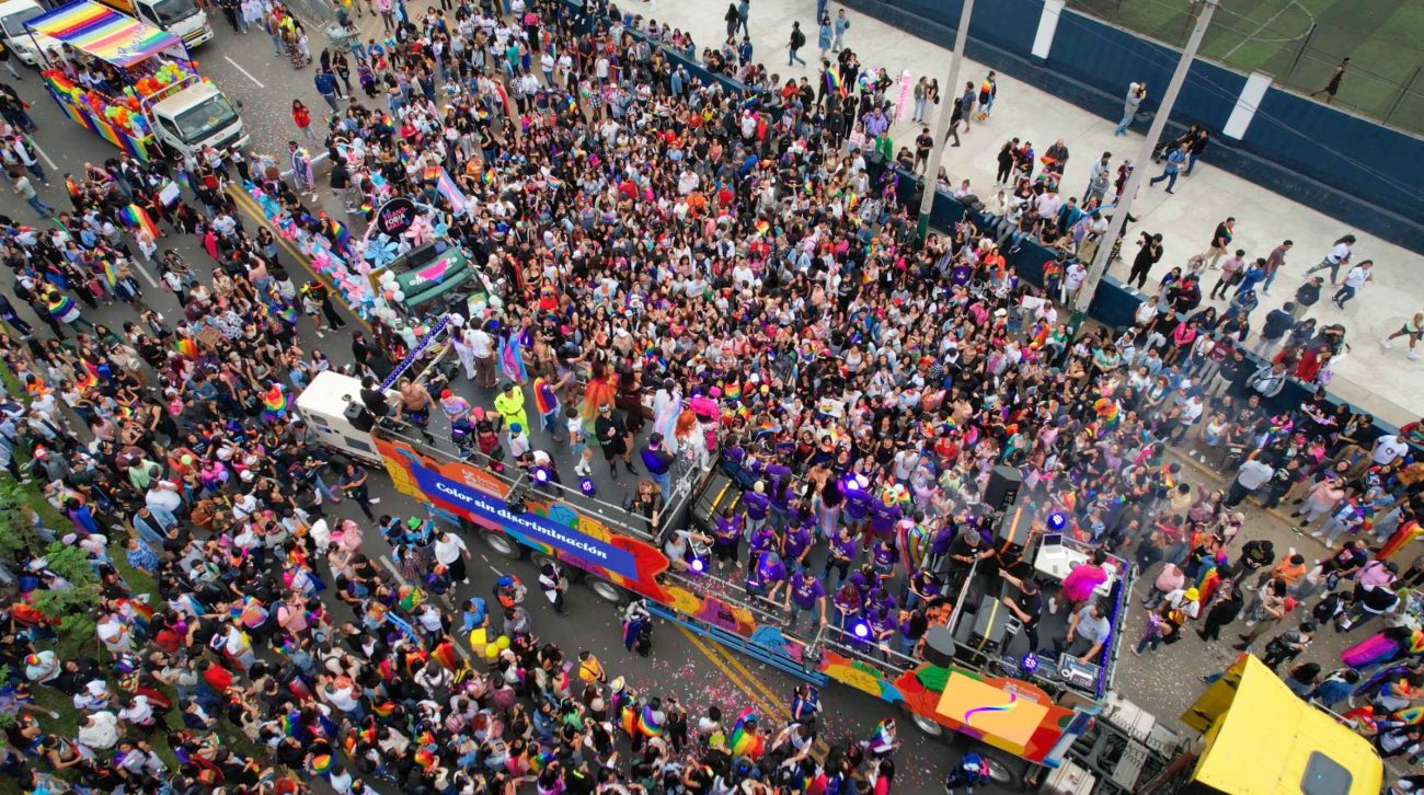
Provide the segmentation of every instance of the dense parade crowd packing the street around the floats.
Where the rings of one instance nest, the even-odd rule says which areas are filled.
[[[440,207],[449,242],[504,298],[453,335],[476,389],[402,383],[397,412],[443,416],[488,466],[557,470],[567,447],[585,476],[601,456],[615,483],[641,479],[627,504],[655,530],[679,459],[729,457],[749,477],[740,507],[709,537],[668,536],[675,566],[706,544],[713,570],[731,564],[785,606],[793,630],[805,615],[864,623],[873,644],[909,657],[944,620],[941,597],[993,556],[985,483],[994,466],[1015,467],[1024,499],[1098,550],[1052,600],[1014,580],[1031,648],[1101,660],[1111,628],[1094,588],[1114,553],[1153,583],[1139,654],[1193,625],[1219,643],[1240,620],[1242,650],[1290,664],[1287,684],[1323,705],[1366,698],[1354,719],[1381,755],[1417,761],[1424,644],[1377,620],[1424,581],[1424,560],[1401,566],[1418,533],[1413,445],[1424,427],[1378,435],[1323,398],[1273,400],[1287,373],[1304,379],[1307,360],[1313,375],[1341,350],[1344,329],[1317,329],[1307,305],[1287,309],[1290,323],[1272,313],[1253,339],[1250,296],[1220,318],[1198,311],[1198,274],[1215,265],[1205,261],[1163,279],[1134,328],[1069,329],[1058,301],[1082,285],[1072,255],[1094,245],[1108,178],[1069,222],[1045,211],[1065,150],[1040,170],[1031,144],[1011,141],[1004,214],[917,242],[907,185],[867,161],[894,113],[889,85],[862,80],[830,17],[820,43],[836,60],[810,85],[752,63],[748,40],[732,38],[746,3],[728,11],[728,43],[701,51],[602,3],[447,6],[412,16],[379,4],[387,41],[357,41],[350,64],[315,58],[333,113],[315,121],[293,105],[329,151],[342,204],[413,195]],[[224,10],[235,30],[290,19],[251,3]],[[298,64],[305,38],[286,30]],[[669,51],[746,94],[695,80]],[[950,101],[987,114],[987,85]],[[308,162],[296,142],[285,157]],[[359,256],[360,244],[312,199],[310,170],[296,168],[293,185],[283,165],[256,152],[114,158],[64,175],[73,208],[56,228],[4,219],[10,292],[48,333],[0,296],[19,383],[0,459],[63,526],[36,514],[6,561],[19,597],[0,641],[13,717],[0,771],[36,792],[298,792],[318,776],[343,794],[887,791],[893,721],[817,751],[813,690],[792,695],[789,721],[638,692],[590,650],[541,641],[524,587],[481,580],[460,533],[380,513],[372,473],[328,464],[295,395],[325,369],[379,382],[412,341],[377,318],[352,333],[349,356],[305,349],[308,322],[325,339],[343,312],[320,282],[293,279],[299,265],[271,229],[246,228],[222,188],[255,182],[333,249]],[[467,207],[450,205],[433,167]],[[188,189],[164,201],[171,180]],[[127,228],[131,204],[211,264]],[[1005,259],[1028,239],[1064,252],[1042,289]],[[1152,238],[1142,245],[1151,252]],[[158,262],[172,316],[145,301],[134,249]],[[115,301],[132,319],[95,325]],[[1280,352],[1250,365],[1245,346],[1267,339]],[[1227,486],[1190,483],[1169,447]],[[1294,507],[1329,553],[1312,563],[1274,550],[1239,510],[1247,496]],[[366,524],[333,510],[343,500]],[[50,560],[60,547],[80,550],[98,583],[97,638],[68,653],[56,645],[63,617],[33,606],[37,590],[70,586]],[[386,547],[392,567],[373,551]],[[154,593],[135,590],[140,576]],[[565,583],[558,566],[540,571],[560,613]],[[1059,601],[1072,617],[1064,635],[1040,638]],[[646,614],[627,618],[628,648],[646,651]],[[1361,625],[1391,650],[1344,668],[1296,661],[1321,628]],[[41,688],[73,700],[75,731],[36,704]],[[946,785],[981,784],[975,771],[964,759]]]

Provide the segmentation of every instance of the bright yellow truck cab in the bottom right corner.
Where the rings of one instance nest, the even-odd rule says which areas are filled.
[[[1296,697],[1245,654],[1182,715],[1203,731],[1192,781],[1233,795],[1377,795],[1368,739]]]

